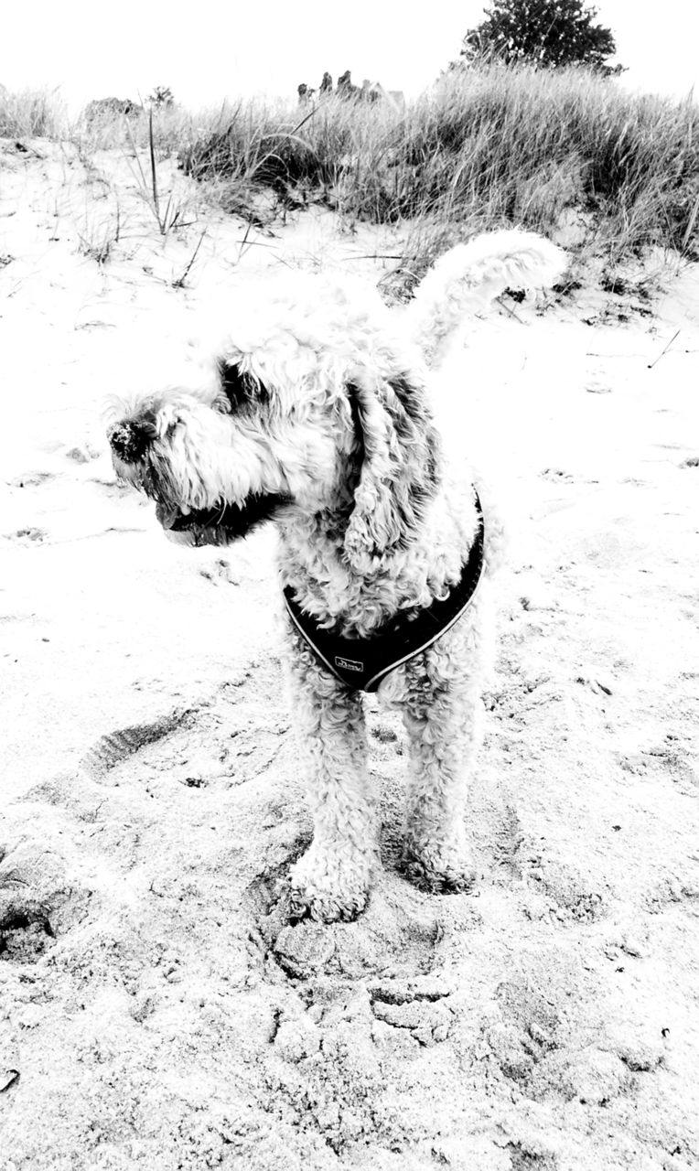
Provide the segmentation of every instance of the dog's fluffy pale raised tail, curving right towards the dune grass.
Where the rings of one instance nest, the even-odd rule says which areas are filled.
[[[534,232],[489,232],[458,245],[437,261],[406,309],[406,324],[427,365],[434,365],[464,317],[507,288],[556,282],[566,253]]]

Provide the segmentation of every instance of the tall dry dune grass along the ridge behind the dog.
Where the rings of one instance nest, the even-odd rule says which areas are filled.
[[[426,262],[477,231],[550,235],[570,220],[574,247],[612,260],[647,246],[697,255],[699,107],[631,95],[584,69],[484,62],[446,74],[404,111],[331,96],[308,109],[255,100],[197,115],[83,115],[70,126],[55,94],[0,94],[0,135],[69,135],[84,155],[177,156],[226,211],[249,218],[270,192],[272,215],[320,201],[350,222],[410,220],[418,267],[420,247]]]

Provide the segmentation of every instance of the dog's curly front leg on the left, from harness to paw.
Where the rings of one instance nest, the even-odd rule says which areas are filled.
[[[297,642],[290,671],[314,820],[313,842],[292,867],[292,915],[352,919],[366,905],[377,856],[362,699]]]

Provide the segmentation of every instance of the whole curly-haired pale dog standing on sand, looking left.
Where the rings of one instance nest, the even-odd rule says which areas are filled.
[[[402,869],[433,892],[474,879],[464,812],[503,537],[484,486],[445,466],[430,376],[468,313],[563,268],[553,244],[506,231],[446,253],[396,309],[348,279],[251,283],[211,383],[146,393],[109,429],[118,477],[156,501],[171,540],[229,545],[276,526],[314,819],[289,876],[294,918],[366,905],[378,827],[362,691],[399,706],[407,730]]]

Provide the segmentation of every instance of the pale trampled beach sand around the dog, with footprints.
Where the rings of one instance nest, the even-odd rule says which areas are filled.
[[[23,145],[0,143],[0,1171],[698,1167],[697,267],[468,324],[440,410],[512,530],[478,886],[397,872],[405,745],[370,700],[383,872],[356,923],[289,926],[310,821],[274,534],[170,546],[102,412],[201,377],[189,338],[231,282],[376,280],[399,233],[309,210],[246,234],[164,162],[189,214],[163,237],[124,151]]]

